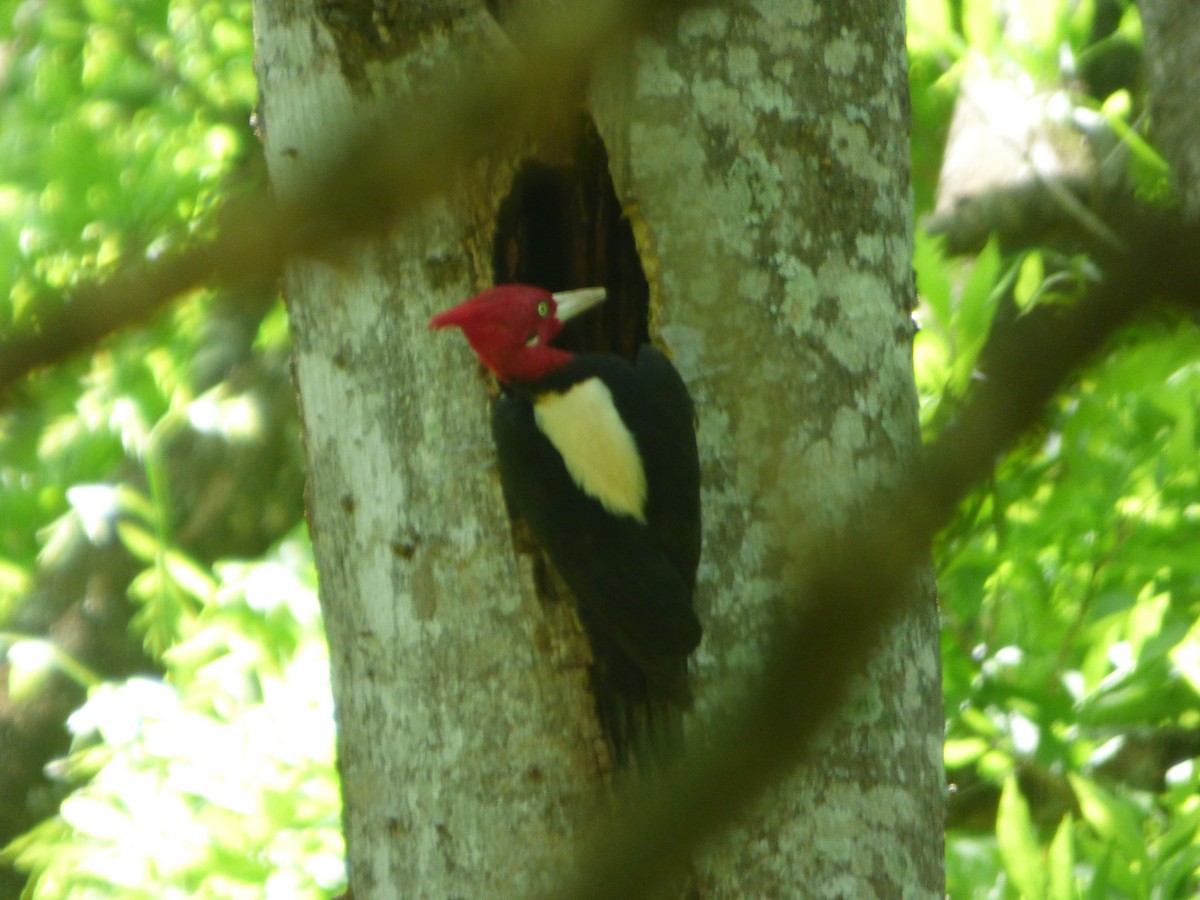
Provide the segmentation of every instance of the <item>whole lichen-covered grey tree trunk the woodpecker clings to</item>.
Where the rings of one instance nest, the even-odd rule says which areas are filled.
[[[354,18],[257,0],[282,197],[376,100],[445,78],[455,48],[504,48],[461,2],[412,6]],[[653,337],[698,407],[703,715],[803,602],[788,584],[822,552],[812,535],[870,515],[917,445],[902,8],[710,5],[606,54],[592,102]],[[570,864],[604,782],[587,650],[512,539],[486,380],[462,342],[425,334],[494,277],[505,190],[480,176],[336,262],[294,262],[284,284],[358,900],[532,895]],[[937,619],[920,582],[821,763],[700,863],[703,895],[941,894]]]

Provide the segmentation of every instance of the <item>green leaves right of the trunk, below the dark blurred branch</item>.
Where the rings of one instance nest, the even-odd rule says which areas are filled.
[[[1194,760],[1162,757],[1200,727],[1198,358],[1190,323],[1129,334],[936,550],[947,767],[976,791],[1003,787],[990,859],[1024,896],[1200,888]],[[944,396],[944,380],[923,383],[930,402]],[[952,830],[948,853],[952,895],[973,895],[954,877],[979,887],[979,839]]]

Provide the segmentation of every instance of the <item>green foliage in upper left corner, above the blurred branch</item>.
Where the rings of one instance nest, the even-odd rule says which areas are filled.
[[[194,233],[253,150],[250,4],[17,5],[0,104],[0,325]],[[7,298],[7,299],[5,299]]]

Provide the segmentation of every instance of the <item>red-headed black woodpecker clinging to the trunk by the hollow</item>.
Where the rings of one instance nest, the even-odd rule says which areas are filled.
[[[552,346],[604,288],[504,284],[433,317],[500,384],[500,481],[577,600],[593,694],[617,760],[672,746],[691,704],[700,460],[683,379],[649,344],[634,364]]]

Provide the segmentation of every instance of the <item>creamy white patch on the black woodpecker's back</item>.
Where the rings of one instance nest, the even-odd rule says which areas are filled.
[[[588,378],[562,394],[542,394],[533,415],[583,493],[610,512],[646,522],[642,457],[604,382]]]

